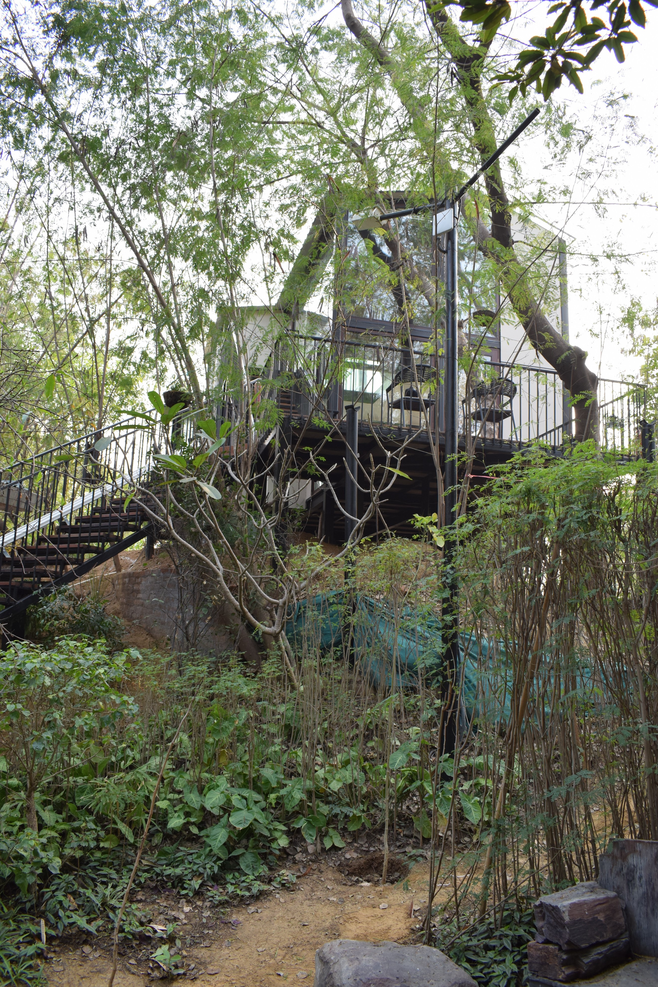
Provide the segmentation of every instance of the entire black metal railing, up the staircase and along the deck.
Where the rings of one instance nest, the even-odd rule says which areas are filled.
[[[463,435],[508,448],[535,441],[562,447],[570,424],[562,421],[564,396],[554,370],[481,361],[460,371],[459,388]],[[270,401],[290,418],[336,421],[357,404],[361,421],[384,432],[408,433],[427,423],[436,433],[444,430],[443,360],[393,343],[293,336],[277,343],[251,390],[250,407]],[[643,385],[604,379],[598,397],[601,447],[627,458],[641,455]],[[236,407],[218,404],[218,424],[235,418]],[[175,444],[196,443],[196,417],[182,413],[174,420]],[[244,427],[237,428],[222,455],[236,454],[236,443],[244,441]],[[154,454],[165,445],[162,426],[145,428],[143,419],[125,418],[1,469],[0,569],[17,546],[37,547],[42,535],[120,499],[135,482],[145,486]]]

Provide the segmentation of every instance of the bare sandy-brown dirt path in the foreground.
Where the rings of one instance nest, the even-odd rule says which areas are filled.
[[[417,909],[427,900],[427,883],[425,863],[415,865],[397,884],[385,887],[366,881],[354,883],[327,863],[319,863],[298,877],[292,889],[261,894],[249,905],[232,908],[221,919],[212,917],[200,898],[184,905],[177,898],[177,905],[167,905],[161,896],[155,899],[160,905],[156,911],[181,909],[173,914],[182,922],[179,935],[186,972],[169,982],[195,980],[213,987],[259,987],[288,980],[310,987],[316,949],[329,940],[404,942],[418,925]],[[195,937],[200,942],[186,949],[185,925],[196,932],[203,930]],[[149,954],[154,949],[148,946],[126,951],[119,958],[116,987],[153,983],[158,967],[152,965],[149,970]],[[107,987],[109,950],[93,945],[77,950],[61,947],[47,960],[45,972],[51,987]]]

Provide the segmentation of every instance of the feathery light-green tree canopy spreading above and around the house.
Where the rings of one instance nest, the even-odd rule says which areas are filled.
[[[641,23],[642,5],[604,6],[605,30],[583,21],[600,3],[549,8],[545,98],[562,75],[573,82],[560,63],[547,86],[558,49],[571,57],[589,38],[591,63],[601,45],[630,43],[624,26]],[[54,434],[55,419],[69,434],[107,420],[134,404],[145,374],[211,401],[227,334],[250,352],[239,376],[250,372],[247,305],[278,324],[310,299],[329,314],[337,291],[339,308],[440,322],[427,228],[341,217],[454,190],[533,108],[540,62],[523,59],[548,48],[510,70],[513,49],[492,44],[507,7],[462,4],[467,28],[454,4],[430,2],[355,13],[343,0],[340,18],[250,0],[6,5],[6,393],[38,366],[18,388],[34,390],[31,408],[10,403],[11,442],[30,427],[33,439]],[[550,104],[542,125],[558,156],[591,138]],[[511,242],[511,216],[528,215],[534,195],[518,169],[495,166],[465,201],[461,314],[495,308],[502,281],[503,306],[558,370],[585,436],[595,375],[540,304],[552,304],[557,237],[523,260]]]

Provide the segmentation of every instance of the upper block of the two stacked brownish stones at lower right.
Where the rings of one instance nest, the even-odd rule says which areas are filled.
[[[626,931],[618,895],[595,880],[543,895],[535,903],[535,923],[541,937],[562,949],[585,949]]]

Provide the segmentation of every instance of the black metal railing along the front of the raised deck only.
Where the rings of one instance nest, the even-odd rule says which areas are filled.
[[[462,360],[459,428],[489,443],[543,442],[561,448],[571,434],[568,394],[555,370],[536,365]],[[269,390],[285,416],[340,419],[357,404],[362,422],[378,429],[444,431],[443,358],[393,342],[331,341],[292,335],[277,343],[266,366]],[[639,455],[645,388],[625,381],[599,382],[601,447]],[[596,407],[596,406],[595,406]]]

